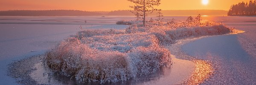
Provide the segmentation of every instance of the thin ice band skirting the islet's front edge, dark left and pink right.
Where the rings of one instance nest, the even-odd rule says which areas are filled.
[[[23,72],[12,72],[15,73],[13,75],[18,75],[22,79],[19,81],[20,83],[26,84],[51,84],[51,85],[76,85],[76,84],[96,84],[100,85],[99,82],[85,82],[81,83],[76,81],[75,79],[70,79],[70,77],[64,76],[53,76],[48,77],[45,76],[45,73],[50,72],[49,69],[45,69],[40,61],[40,57],[43,56],[35,56],[29,59],[23,59],[20,62],[17,62],[12,65],[14,68],[12,71],[32,71],[31,73]],[[137,77],[136,79],[130,79],[128,81],[109,83],[111,85],[120,85],[120,84],[129,84],[129,85],[162,85],[162,84],[179,84],[185,82],[189,79],[192,72],[195,70],[194,62],[182,59],[176,59],[174,55],[172,55],[173,65],[172,68],[161,67],[156,73],[143,75],[141,77]],[[30,61],[30,62],[29,62]],[[31,62],[33,61],[33,62]],[[29,62],[29,63],[28,63]],[[35,65],[34,65],[35,64]],[[26,65],[26,66],[20,66]],[[33,69],[33,68],[36,68]],[[44,73],[44,74],[43,74]],[[35,81],[31,81],[31,80]],[[28,82],[30,80],[30,82]]]

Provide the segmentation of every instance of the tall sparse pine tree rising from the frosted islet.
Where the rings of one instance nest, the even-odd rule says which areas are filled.
[[[137,9],[139,9],[138,11],[143,12],[143,25],[145,26],[145,17],[148,14],[151,14],[154,10],[157,10],[156,8],[154,8],[154,6],[159,6],[160,0],[128,0],[131,1],[133,3],[136,3],[138,7]],[[131,8],[134,9],[135,6],[130,6]],[[142,9],[142,10],[140,10]]]

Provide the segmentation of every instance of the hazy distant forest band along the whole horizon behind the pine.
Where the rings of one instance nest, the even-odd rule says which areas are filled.
[[[164,16],[226,15],[224,10],[163,10]],[[157,12],[149,16],[156,16]],[[79,10],[9,10],[0,11],[0,16],[134,16],[129,10],[79,11]]]

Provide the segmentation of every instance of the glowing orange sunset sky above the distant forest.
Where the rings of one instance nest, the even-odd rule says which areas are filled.
[[[163,10],[220,9],[229,10],[232,4],[249,0],[209,0],[202,5],[201,0],[161,0]],[[127,0],[0,0],[0,10],[51,10],[73,9],[84,11],[113,11],[130,9]]]

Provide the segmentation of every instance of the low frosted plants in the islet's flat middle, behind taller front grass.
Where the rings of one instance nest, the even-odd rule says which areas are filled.
[[[157,41],[154,35],[143,32],[87,37],[81,42],[100,51],[128,52],[139,46],[148,47]]]

